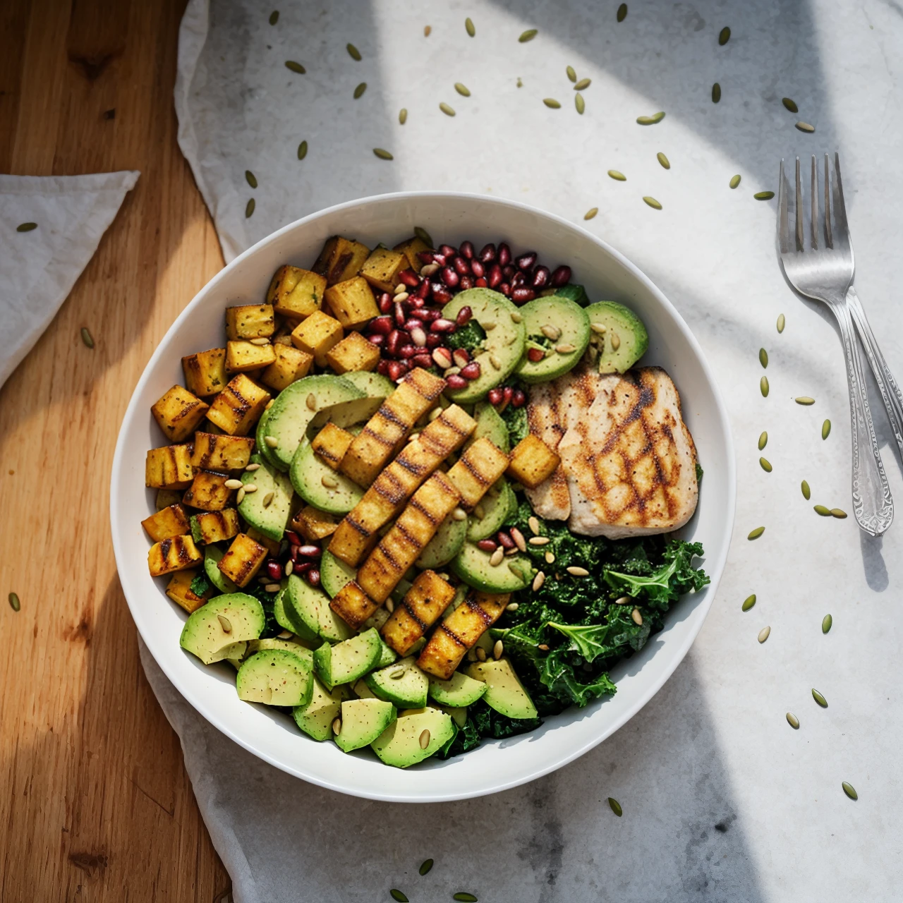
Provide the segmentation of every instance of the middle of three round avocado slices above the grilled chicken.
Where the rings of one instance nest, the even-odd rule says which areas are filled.
[[[590,344],[590,318],[579,304],[563,295],[535,298],[521,309],[526,326],[526,349],[541,349],[542,360],[530,360],[527,354],[517,365],[517,376],[525,383],[547,383],[560,377],[580,363],[586,346]],[[559,330],[558,338],[550,339],[543,330]],[[551,331],[551,330],[549,330]],[[564,354],[557,349],[570,346]]]

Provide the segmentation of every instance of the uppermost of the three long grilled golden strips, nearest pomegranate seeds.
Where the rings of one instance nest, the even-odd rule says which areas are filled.
[[[414,424],[426,414],[445,388],[442,377],[415,368],[386,398],[368,424],[355,436],[342,458],[340,470],[359,486],[369,486],[394,458]]]

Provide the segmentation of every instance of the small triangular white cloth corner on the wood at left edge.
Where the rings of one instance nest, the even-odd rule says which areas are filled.
[[[60,310],[139,174],[0,175],[0,386]]]

